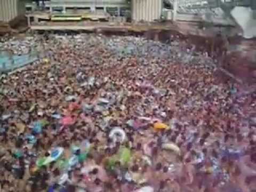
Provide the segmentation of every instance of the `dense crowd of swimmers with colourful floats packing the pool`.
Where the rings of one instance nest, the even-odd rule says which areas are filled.
[[[40,54],[1,78],[0,191],[256,191],[256,95],[182,46],[6,39]]]

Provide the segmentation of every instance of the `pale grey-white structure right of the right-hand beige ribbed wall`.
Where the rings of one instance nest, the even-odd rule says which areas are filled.
[[[255,0],[169,0],[174,20],[211,22],[213,25],[238,25],[243,37],[256,37]]]

